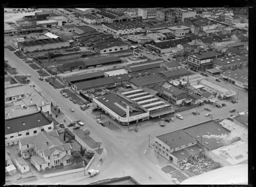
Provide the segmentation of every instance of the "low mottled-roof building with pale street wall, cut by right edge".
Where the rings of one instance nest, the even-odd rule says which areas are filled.
[[[232,83],[246,90],[248,89],[248,74],[246,75],[238,72],[237,70],[233,71],[227,69],[226,71],[221,73],[221,77],[229,83]]]

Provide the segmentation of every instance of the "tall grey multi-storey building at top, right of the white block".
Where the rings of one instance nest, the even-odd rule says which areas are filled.
[[[157,9],[156,19],[167,23],[175,23],[176,13],[173,12],[173,8]]]

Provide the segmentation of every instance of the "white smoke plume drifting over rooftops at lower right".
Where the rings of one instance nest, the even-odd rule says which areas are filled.
[[[233,142],[239,141],[241,138],[238,137],[236,134],[234,133],[228,133],[228,134],[221,134],[221,135],[215,135],[215,134],[211,134],[211,135],[203,135],[203,138],[208,138],[208,139],[219,139],[219,142],[223,143],[224,145],[229,145]]]

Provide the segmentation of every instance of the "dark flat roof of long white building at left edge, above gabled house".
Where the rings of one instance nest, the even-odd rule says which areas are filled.
[[[40,120],[38,122],[37,120]],[[25,125],[23,125],[25,123]],[[49,125],[51,122],[40,112],[5,120],[5,135]],[[8,129],[7,127],[10,127]]]

